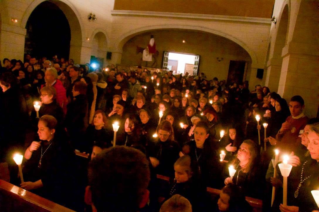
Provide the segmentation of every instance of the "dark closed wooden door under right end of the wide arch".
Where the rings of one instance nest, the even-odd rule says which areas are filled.
[[[246,68],[246,61],[235,61],[229,62],[227,83],[240,83],[244,80],[244,73]]]

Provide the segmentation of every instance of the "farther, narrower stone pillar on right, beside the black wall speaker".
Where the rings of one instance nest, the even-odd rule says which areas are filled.
[[[265,86],[269,87],[271,92],[278,91],[281,64],[282,59],[278,58],[271,58],[267,63],[267,76],[265,80]]]

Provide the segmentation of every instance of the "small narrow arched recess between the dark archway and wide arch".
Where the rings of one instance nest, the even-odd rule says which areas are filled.
[[[98,32],[94,35],[92,41],[91,64],[97,62],[102,68],[105,64],[107,54],[107,39],[103,32]]]

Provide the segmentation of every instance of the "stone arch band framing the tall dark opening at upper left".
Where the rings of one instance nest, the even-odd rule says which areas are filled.
[[[26,9],[21,20],[21,27],[26,27],[26,22],[29,19],[32,11],[42,2],[46,0],[35,0]],[[64,13],[67,18],[71,31],[70,41],[70,58],[74,59],[75,62],[80,62],[82,41],[84,41],[82,33],[83,23],[81,22],[80,14],[76,7],[69,0],[49,0],[49,2],[56,4]]]

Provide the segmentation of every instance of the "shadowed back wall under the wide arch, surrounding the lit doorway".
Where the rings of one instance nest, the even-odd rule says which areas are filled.
[[[146,48],[150,35],[154,36],[156,49],[159,51],[156,68],[161,68],[163,51],[200,55],[199,72],[204,72],[207,79],[217,77],[221,80],[227,80],[230,72],[230,61],[252,63],[249,53],[230,39],[201,30],[172,28],[144,31],[125,38],[121,64],[138,65],[142,54],[136,53],[137,46]],[[243,75],[248,74],[243,73]]]

